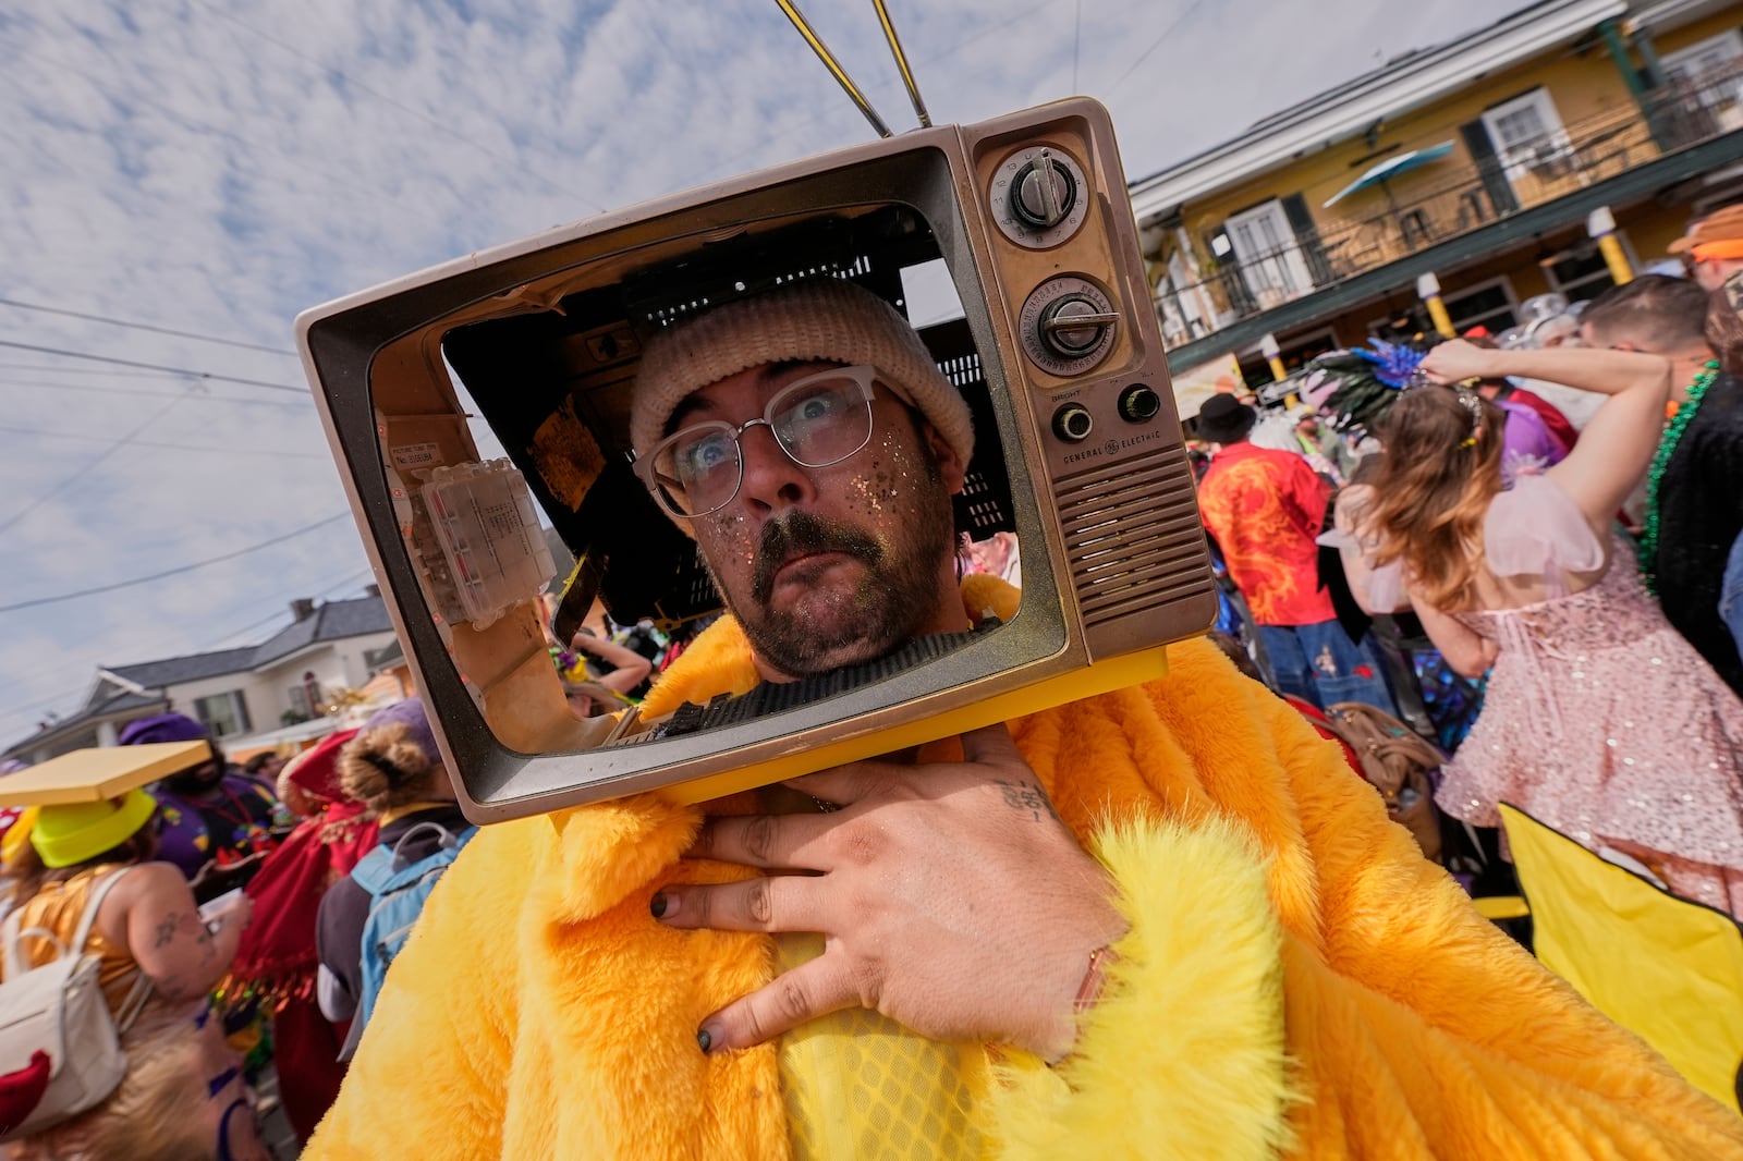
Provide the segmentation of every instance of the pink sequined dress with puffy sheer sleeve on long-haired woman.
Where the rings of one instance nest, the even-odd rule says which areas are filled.
[[[1621,542],[1598,584],[1556,591],[1563,570],[1602,567],[1604,547],[1553,481],[1523,476],[1495,497],[1483,546],[1492,572],[1541,574],[1550,596],[1457,614],[1501,652],[1436,802],[1478,826],[1509,802],[1743,917],[1743,701],[1665,621]]]

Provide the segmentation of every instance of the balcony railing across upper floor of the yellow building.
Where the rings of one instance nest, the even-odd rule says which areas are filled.
[[[1361,194],[1386,204],[1363,218],[1297,228],[1269,251],[1206,261],[1199,275],[1156,291],[1170,345],[1335,286],[1534,206],[1614,178],[1644,162],[1743,129],[1743,61],[1677,78],[1645,99],[1530,141],[1497,143],[1476,164],[1438,162],[1410,174],[1408,199],[1389,188]],[[1208,268],[1206,268],[1208,267]]]

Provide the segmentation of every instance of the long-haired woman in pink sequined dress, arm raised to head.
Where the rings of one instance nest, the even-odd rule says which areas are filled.
[[[1421,366],[1438,385],[1403,392],[1380,424],[1386,465],[1358,526],[1447,661],[1490,669],[1441,809],[1495,826],[1509,802],[1743,915],[1743,703],[1665,621],[1611,532],[1658,446],[1668,368],[1630,352],[1441,343]],[[1565,460],[1511,486],[1501,411],[1468,387],[1502,375],[1607,396]]]

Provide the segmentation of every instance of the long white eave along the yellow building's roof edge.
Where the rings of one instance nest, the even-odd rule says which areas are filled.
[[[1131,209],[1143,225],[1145,218],[1286,166],[1304,153],[1361,132],[1377,120],[1468,87],[1473,77],[1572,42],[1626,12],[1626,0],[1544,0],[1522,9],[1459,40],[1428,49],[1398,68],[1379,68],[1358,77],[1332,101],[1309,101],[1279,124],[1248,131],[1135,181]]]

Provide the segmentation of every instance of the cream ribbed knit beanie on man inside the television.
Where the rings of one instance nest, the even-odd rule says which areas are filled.
[[[919,408],[964,464],[974,453],[969,406],[908,321],[856,282],[819,277],[715,307],[648,340],[629,406],[636,455],[648,455],[666,436],[666,420],[690,392],[788,361],[875,366],[884,385]]]

